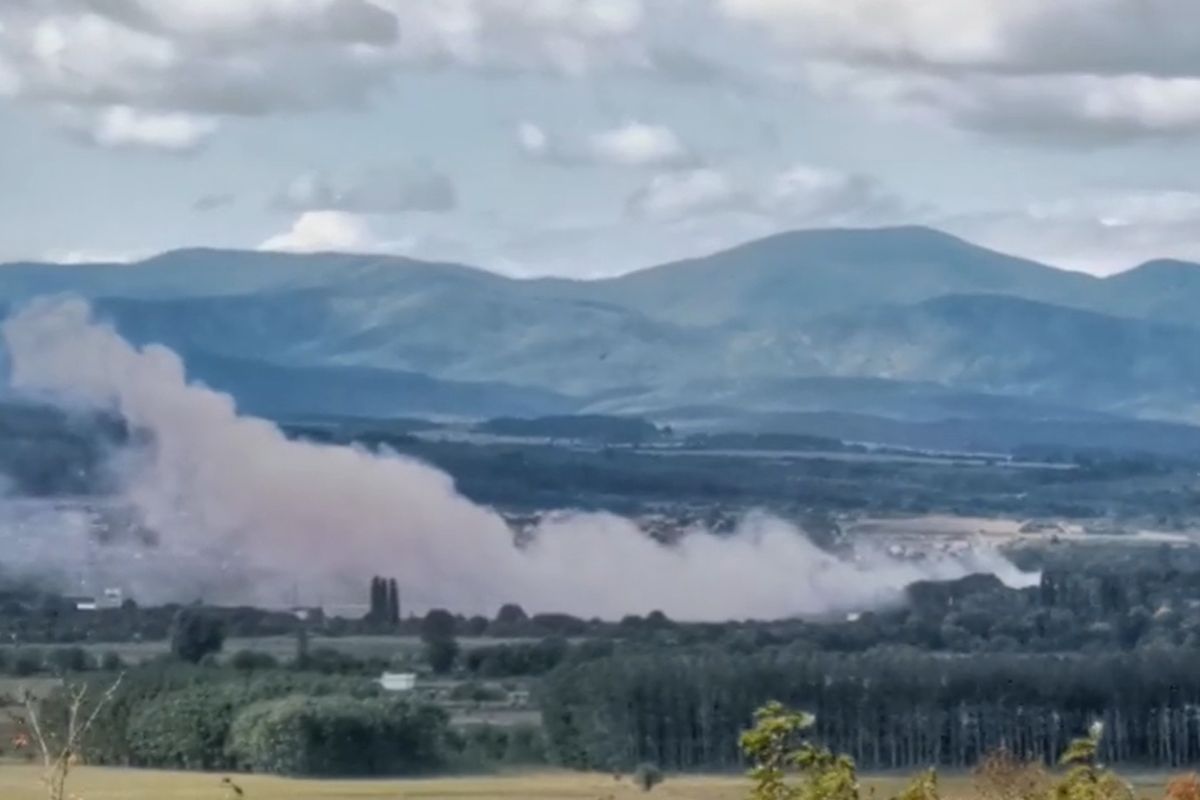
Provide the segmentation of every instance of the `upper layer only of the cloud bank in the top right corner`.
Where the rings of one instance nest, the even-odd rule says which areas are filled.
[[[716,0],[810,58],[1026,74],[1195,74],[1190,0]]]

